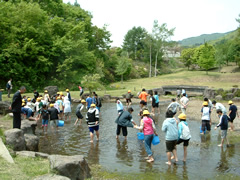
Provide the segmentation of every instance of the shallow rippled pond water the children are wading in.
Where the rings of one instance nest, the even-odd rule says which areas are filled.
[[[171,167],[165,164],[167,161],[165,153],[164,133],[161,131],[164,114],[155,117],[157,132],[161,143],[152,146],[154,151],[154,163],[147,163],[144,144],[137,139],[138,130],[128,128],[127,141],[120,135],[116,140],[115,119],[117,110],[115,103],[104,103],[101,108],[100,117],[100,141],[90,143],[89,131],[85,119],[81,126],[74,126],[75,106],[72,108],[71,122],[65,122],[64,127],[59,128],[57,133],[49,132],[42,134],[40,130],[39,150],[49,154],[62,155],[84,155],[89,164],[100,164],[109,171],[121,173],[139,172],[162,172],[176,174],[180,179],[213,179],[228,174],[240,178],[240,143],[231,144],[230,147],[218,147],[221,137],[219,130],[212,130],[209,135],[199,134],[200,122],[188,119],[192,138],[188,146],[187,162],[184,164],[183,145],[177,146],[179,162]],[[139,124],[138,104],[132,105],[133,119]],[[166,105],[160,105],[161,112],[165,112]],[[83,114],[86,114],[84,110]],[[215,114],[214,114],[215,115]],[[212,126],[212,129],[214,126]],[[231,177],[230,176],[230,177]]]

